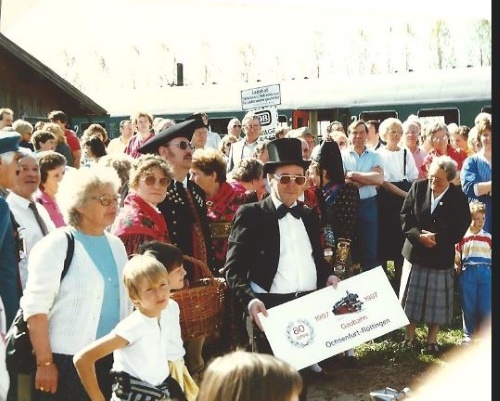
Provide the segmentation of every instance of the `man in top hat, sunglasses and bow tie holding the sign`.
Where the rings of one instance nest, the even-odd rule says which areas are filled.
[[[242,205],[236,212],[225,264],[228,284],[247,306],[256,326],[253,345],[261,353],[272,350],[259,312],[267,315],[267,308],[326,285],[336,287],[340,281],[323,258],[317,213],[297,202],[309,165],[302,159],[300,140],[276,139],[267,149],[264,174],[271,186],[270,196]],[[301,399],[305,394],[304,390]]]

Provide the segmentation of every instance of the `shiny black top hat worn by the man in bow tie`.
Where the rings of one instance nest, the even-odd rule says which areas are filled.
[[[295,165],[309,167],[310,161],[302,159],[302,143],[297,138],[280,138],[267,144],[269,161],[264,164],[264,175],[272,173],[279,166]]]

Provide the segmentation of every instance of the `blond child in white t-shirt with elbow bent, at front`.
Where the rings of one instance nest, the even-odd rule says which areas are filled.
[[[151,400],[186,401],[167,363],[172,330],[167,310],[171,302],[167,270],[150,255],[136,255],[124,267],[123,282],[136,310],[73,357],[85,390],[92,401],[107,401],[94,366],[113,353],[112,400],[149,396]]]

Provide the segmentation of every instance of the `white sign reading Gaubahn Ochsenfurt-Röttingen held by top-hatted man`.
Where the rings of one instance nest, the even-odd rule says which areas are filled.
[[[274,355],[297,369],[409,324],[380,266],[259,318]]]

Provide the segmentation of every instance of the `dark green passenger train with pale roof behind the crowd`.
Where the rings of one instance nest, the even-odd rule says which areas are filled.
[[[473,126],[480,112],[492,112],[491,67],[290,81],[281,83],[280,88],[281,104],[275,106],[279,124],[292,128],[308,126],[315,135],[334,120],[347,127],[356,119],[382,121],[396,117],[404,121],[416,115],[440,118],[446,124]],[[160,98],[163,94],[151,96],[147,111],[154,117],[176,121],[204,111],[209,115],[211,130],[222,136],[227,133],[231,118],[241,119],[247,112],[240,103],[243,89],[234,85],[186,86],[171,88],[175,90],[173,95],[165,89],[165,98]],[[172,99],[172,103],[169,105],[166,99]],[[135,111],[130,107],[130,114]],[[81,135],[91,123],[99,123],[114,138],[119,136],[120,121],[130,118],[130,114],[73,117],[71,127]]]

